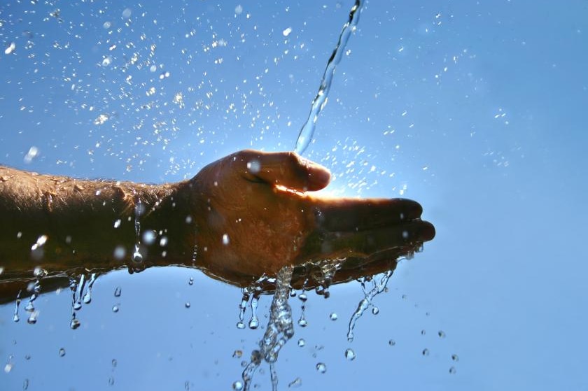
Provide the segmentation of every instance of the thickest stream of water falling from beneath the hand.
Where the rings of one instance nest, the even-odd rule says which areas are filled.
[[[247,391],[253,382],[253,375],[261,364],[261,360],[269,363],[269,371],[272,379],[272,390],[278,388],[278,376],[274,363],[278,360],[281,348],[294,335],[294,323],[292,321],[292,308],[288,304],[290,297],[290,280],[292,279],[292,267],[283,266],[276,278],[276,291],[269,308],[269,322],[267,329],[259,343],[259,350],[251,353],[251,362],[243,371],[243,390]]]

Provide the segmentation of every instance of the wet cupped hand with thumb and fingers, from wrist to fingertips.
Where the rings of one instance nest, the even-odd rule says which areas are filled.
[[[294,152],[244,150],[204,167],[179,190],[195,211],[188,240],[196,266],[235,283],[284,265],[348,259],[349,275],[389,266],[435,236],[415,201],[309,194],[329,180],[327,169]]]

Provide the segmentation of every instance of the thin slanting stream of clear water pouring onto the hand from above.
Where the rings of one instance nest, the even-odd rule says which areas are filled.
[[[321,113],[325,107],[325,104],[327,104],[327,97],[330,86],[332,84],[332,77],[335,75],[335,69],[341,61],[341,57],[345,51],[345,46],[347,45],[347,41],[349,41],[349,36],[351,36],[351,32],[355,31],[357,27],[362,8],[362,1],[356,0],[353,4],[353,7],[351,7],[351,11],[349,11],[349,20],[347,20],[347,22],[343,25],[343,29],[339,35],[339,41],[337,41],[337,45],[332,51],[332,55],[327,62],[327,67],[325,68],[325,73],[323,73],[321,85],[318,87],[316,97],[314,97],[312,100],[307,121],[304,122],[304,125],[302,125],[302,129],[300,129],[300,133],[298,134],[298,138],[296,140],[294,151],[300,155],[302,155],[304,150],[308,148],[308,145],[312,141],[314,128],[316,127],[316,120],[318,120],[318,114]]]

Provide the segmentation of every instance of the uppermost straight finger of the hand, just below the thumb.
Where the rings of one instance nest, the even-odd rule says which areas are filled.
[[[410,199],[314,199],[319,229],[330,232],[363,231],[397,225],[421,217],[423,208]]]

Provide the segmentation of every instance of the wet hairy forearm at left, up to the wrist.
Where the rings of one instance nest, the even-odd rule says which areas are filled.
[[[1,278],[32,276],[36,266],[61,272],[132,265],[137,244],[141,268],[184,260],[188,200],[174,199],[181,185],[79,180],[0,167]],[[144,243],[147,230],[157,239],[153,243]]]

